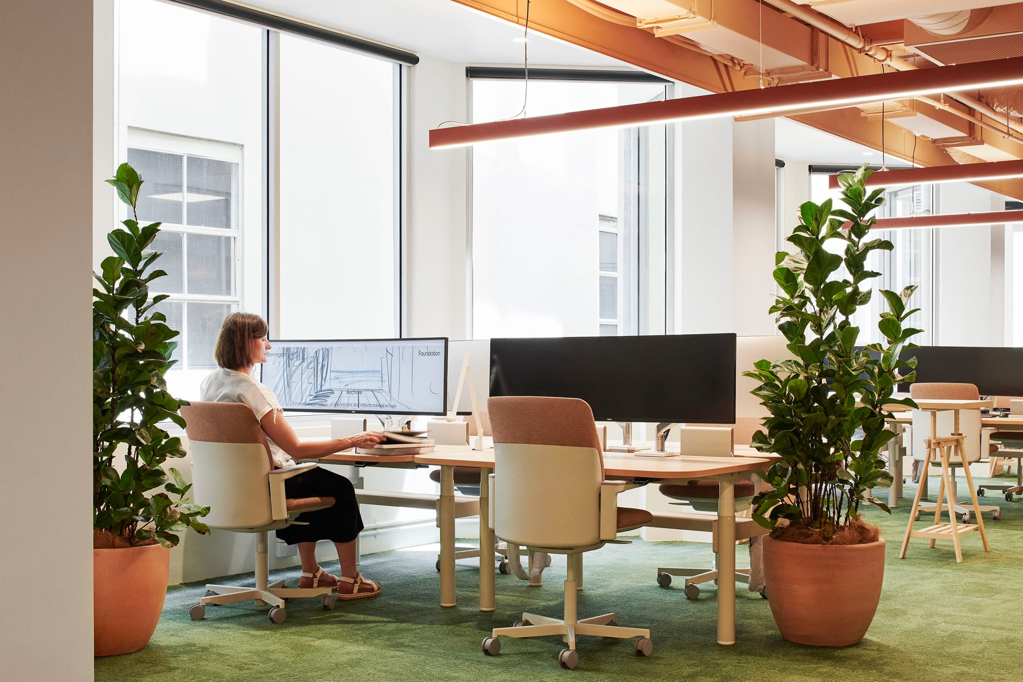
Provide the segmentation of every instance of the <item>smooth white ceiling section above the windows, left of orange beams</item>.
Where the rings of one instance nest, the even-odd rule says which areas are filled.
[[[521,64],[514,24],[451,0],[247,0],[246,4],[455,63]],[[525,3],[523,3],[525,6]],[[628,69],[629,64],[531,32],[535,65]]]

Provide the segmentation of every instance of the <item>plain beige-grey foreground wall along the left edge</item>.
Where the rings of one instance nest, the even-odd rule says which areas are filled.
[[[92,678],[92,24],[93,3],[72,1],[8,0],[0,19],[0,661],[11,680]],[[24,589],[47,566],[59,589]]]

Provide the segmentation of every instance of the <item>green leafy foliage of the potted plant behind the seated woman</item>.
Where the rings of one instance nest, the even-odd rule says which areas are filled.
[[[190,504],[185,494],[191,485],[177,469],[164,469],[185,450],[160,422],[170,419],[184,427],[177,410],[186,403],[167,392],[164,378],[175,363],[171,354],[177,344],[171,339],[178,332],[152,308],[167,295],[149,299],[149,283],[167,274],[153,269],[162,254],[146,251],[161,224],[139,227],[143,181],[131,166],[122,164],[106,182],[131,208],[132,218],[107,234],[115,256],[103,259],[101,273],[92,273],[99,283],[92,289],[93,535],[113,536],[109,546],[157,541],[173,547],[179,531],[209,532],[199,517],[210,508]],[[124,466],[115,466],[120,454]]]

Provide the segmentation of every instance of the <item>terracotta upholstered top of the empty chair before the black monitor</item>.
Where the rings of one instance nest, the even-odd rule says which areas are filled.
[[[578,398],[514,396],[488,398],[494,443],[593,448],[601,453],[593,411]],[[601,457],[601,474],[604,458]]]

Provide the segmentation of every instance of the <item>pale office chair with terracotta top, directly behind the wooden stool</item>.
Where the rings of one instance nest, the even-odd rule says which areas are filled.
[[[909,385],[909,397],[914,400],[980,400],[977,387],[973,383],[913,383]],[[953,427],[953,414],[951,411],[937,413],[937,435],[949,436]],[[960,431],[966,436],[963,441],[963,451],[966,454],[966,465],[978,462],[981,459],[997,452],[998,447],[990,443],[990,435],[994,428],[981,427],[980,410],[960,410]],[[924,410],[913,410],[911,445],[913,458],[917,461],[924,461],[927,458],[926,440],[931,434],[931,413]],[[941,461],[932,461],[932,466],[941,466]],[[962,468],[964,462],[959,457],[949,460],[952,467],[951,496],[958,499],[955,494],[954,470]],[[920,485],[923,486],[923,496],[927,496],[927,471],[921,472]],[[934,503],[921,503],[917,511],[917,518],[920,518],[922,511],[934,509]],[[991,511],[995,520],[1002,518],[1002,509],[996,506],[979,506],[981,512]],[[957,504],[954,513],[963,515],[963,522],[970,522],[971,507]],[[949,513],[953,513],[949,510]]]

